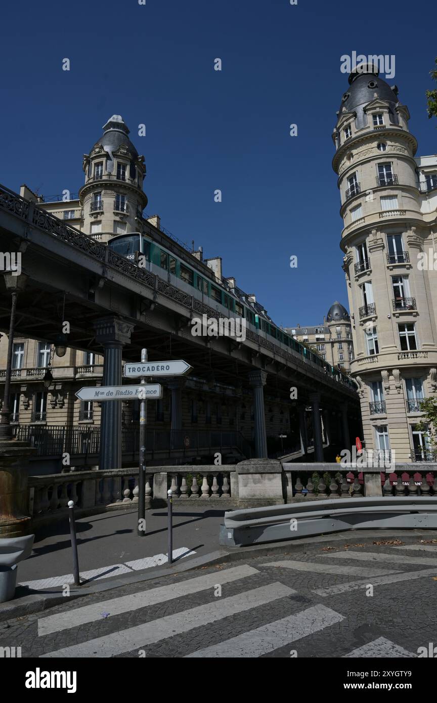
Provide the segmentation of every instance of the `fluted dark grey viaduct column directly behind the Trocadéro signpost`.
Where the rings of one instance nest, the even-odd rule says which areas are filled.
[[[107,316],[94,323],[96,340],[105,350],[103,385],[122,383],[122,349],[131,341],[133,325]],[[118,469],[122,465],[122,401],[104,401],[100,420],[100,462],[102,470]]]

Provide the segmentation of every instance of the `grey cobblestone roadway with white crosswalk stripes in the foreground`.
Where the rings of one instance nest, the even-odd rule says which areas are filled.
[[[66,598],[0,624],[0,646],[22,657],[316,658],[417,657],[437,643],[437,543],[345,544]]]

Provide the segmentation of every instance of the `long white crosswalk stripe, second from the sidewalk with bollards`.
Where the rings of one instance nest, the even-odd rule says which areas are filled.
[[[193,628],[214,623],[222,618],[230,617],[254,607],[266,605],[273,600],[285,598],[295,593],[296,591],[284,586],[282,583],[271,583],[269,586],[261,586],[260,588],[252,589],[252,591],[245,591],[229,598],[215,600],[206,605],[167,615],[167,617],[127,628],[104,637],[98,637],[88,642],[63,647],[63,649],[48,652],[48,654],[41,654],[41,658],[116,657],[118,654],[131,652],[137,648],[141,649],[146,645],[188,632]]]

